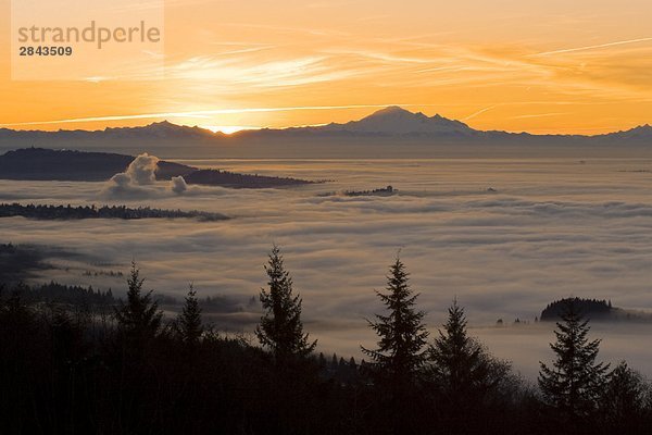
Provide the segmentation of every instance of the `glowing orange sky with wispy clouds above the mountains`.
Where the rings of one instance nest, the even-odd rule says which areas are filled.
[[[652,123],[649,0],[167,0],[162,77],[76,82],[11,80],[11,1],[0,8],[12,128],[285,127],[389,104],[480,129]],[[86,121],[36,124],[64,120]]]

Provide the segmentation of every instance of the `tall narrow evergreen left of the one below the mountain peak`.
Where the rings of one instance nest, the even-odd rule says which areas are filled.
[[[263,347],[269,348],[277,361],[291,357],[305,357],[317,341],[309,341],[301,322],[301,298],[292,294],[292,278],[285,270],[280,249],[274,246],[265,271],[268,290],[261,289],[260,299],[265,310],[255,328]]]

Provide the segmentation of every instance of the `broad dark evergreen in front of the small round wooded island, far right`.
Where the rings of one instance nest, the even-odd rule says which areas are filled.
[[[575,300],[568,300],[556,323],[556,341],[550,344],[556,359],[552,366],[540,362],[539,388],[566,430],[587,427],[607,377],[609,364],[595,363],[600,340],[589,341],[588,323]]]

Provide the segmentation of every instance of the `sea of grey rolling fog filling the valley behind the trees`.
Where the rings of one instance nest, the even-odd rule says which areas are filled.
[[[177,160],[179,161],[179,160]],[[108,195],[102,183],[0,182],[0,201],[197,209],[231,216],[193,220],[30,221],[2,219],[0,243],[46,246],[55,269],[35,277],[112,287],[133,258],[147,288],[181,297],[241,300],[243,312],[215,315],[250,332],[260,316],[247,301],[266,283],[263,264],[278,244],[305,327],[319,350],[360,356],[375,337],[365,319],[381,306],[388,265],[400,256],[432,331],[453,298],[471,332],[532,378],[552,358],[551,324],[534,324],[546,304],[578,296],[652,311],[652,161],[641,159],[202,160],[184,163],[328,181],[298,188],[226,189],[167,183]],[[342,190],[391,185],[390,197]],[[335,192],[335,195],[325,195]],[[90,274],[88,272],[91,272]],[[90,276],[89,276],[90,275]],[[529,324],[513,325],[518,318]],[[496,322],[502,319],[503,327]],[[601,357],[652,375],[652,325],[595,324]]]

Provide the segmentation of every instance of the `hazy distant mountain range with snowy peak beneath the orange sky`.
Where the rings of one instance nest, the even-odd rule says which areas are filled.
[[[648,146],[652,145],[652,126],[642,125],[624,132],[595,136],[532,135],[499,130],[478,130],[461,121],[440,115],[427,116],[399,107],[379,110],[359,121],[322,126],[263,128],[233,135],[187,127],[167,121],[141,127],[103,130],[13,130],[0,128],[0,149],[25,147],[150,151],[159,154],[211,154],[214,157],[293,157],[296,152],[319,148],[328,154],[355,145],[392,144],[403,146],[437,145],[541,145],[547,146]],[[368,150],[367,150],[368,151]],[[387,148],[383,150],[387,151]],[[368,153],[368,152],[367,152]],[[260,156],[259,156],[260,154]],[[263,156],[264,154],[264,156]]]

